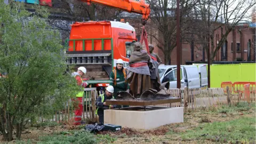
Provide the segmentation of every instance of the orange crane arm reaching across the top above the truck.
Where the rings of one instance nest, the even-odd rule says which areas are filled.
[[[134,1],[134,0],[81,0],[86,2],[88,5],[91,3],[114,7],[118,10],[142,14],[142,20],[148,20],[150,13],[149,4],[145,3],[145,0]]]

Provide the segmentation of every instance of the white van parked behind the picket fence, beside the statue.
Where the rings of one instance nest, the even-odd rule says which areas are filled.
[[[176,65],[159,65],[158,71],[161,83],[170,82],[170,89],[177,88]],[[205,65],[181,65],[180,73],[181,89],[184,87],[199,88],[208,85]]]

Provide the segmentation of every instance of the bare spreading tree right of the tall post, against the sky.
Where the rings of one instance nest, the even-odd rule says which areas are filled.
[[[203,42],[199,43],[203,45],[206,52],[209,50],[207,38],[210,38],[211,61],[227,41],[228,34],[236,29],[239,22],[246,21],[250,17],[248,12],[254,5],[254,0],[203,0],[194,7],[195,19],[201,26],[201,31],[195,31],[195,34],[198,39],[203,39]],[[217,37],[219,41],[214,44],[214,36],[219,29],[221,29],[221,36]]]

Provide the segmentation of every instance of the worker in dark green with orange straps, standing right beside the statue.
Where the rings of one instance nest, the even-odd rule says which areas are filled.
[[[112,70],[110,74],[110,85],[114,87],[114,98],[117,97],[117,92],[126,91],[129,89],[129,85],[127,84],[126,74],[127,70],[123,67],[124,62],[122,59],[118,59],[116,61],[116,68]]]

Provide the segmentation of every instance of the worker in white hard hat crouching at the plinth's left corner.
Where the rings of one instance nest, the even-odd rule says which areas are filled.
[[[114,93],[114,87],[109,85],[106,88],[106,91],[104,94],[100,94],[98,99],[96,100],[95,105],[98,107],[96,109],[96,115],[99,116],[99,122],[104,124],[104,110],[105,109],[112,109],[112,108],[116,108],[115,105],[106,105],[106,100],[110,100],[110,99],[114,99],[113,97],[113,93]]]

